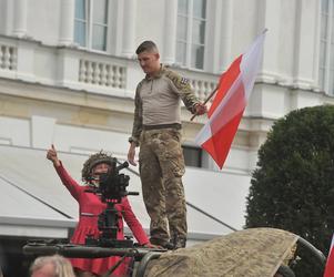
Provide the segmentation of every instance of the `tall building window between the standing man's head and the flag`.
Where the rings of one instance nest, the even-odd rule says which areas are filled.
[[[206,0],[179,0],[176,62],[204,69]]]

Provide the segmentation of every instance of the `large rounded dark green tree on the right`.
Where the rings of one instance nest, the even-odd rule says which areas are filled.
[[[273,125],[259,151],[246,227],[275,227],[325,255],[334,233],[334,106],[293,111]],[[297,276],[321,276],[298,268]]]

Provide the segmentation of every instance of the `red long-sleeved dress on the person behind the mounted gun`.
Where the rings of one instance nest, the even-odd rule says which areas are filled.
[[[98,229],[98,217],[105,209],[107,204],[100,201],[100,197],[93,193],[85,192],[88,186],[79,185],[62,166],[55,167],[55,171],[61,178],[62,183],[70,191],[71,195],[79,203],[79,223],[75,227],[74,234],[71,238],[71,243],[84,245],[87,235],[93,235],[98,238],[100,230]],[[144,245],[149,243],[149,238],[143,230],[140,222],[136,219],[132,212],[130,203],[126,197],[122,198],[120,204],[115,204],[115,208],[119,211],[119,230],[118,239],[123,239],[123,219],[124,217],[128,226],[132,230],[135,239],[139,244]],[[74,268],[79,268],[84,271],[90,271],[97,275],[105,274],[120,258],[109,257],[109,258],[72,258],[70,259]],[[124,276],[128,270],[126,263],[122,263],[117,270],[112,273],[113,276]]]

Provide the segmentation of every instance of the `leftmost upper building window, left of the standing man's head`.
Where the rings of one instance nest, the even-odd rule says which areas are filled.
[[[75,0],[74,41],[82,48],[105,51],[109,0]]]

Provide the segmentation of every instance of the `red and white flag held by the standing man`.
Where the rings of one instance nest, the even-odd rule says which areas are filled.
[[[264,38],[265,31],[221,75],[216,95],[208,112],[209,121],[195,137],[195,143],[212,156],[220,168],[226,160],[253,90]]]

